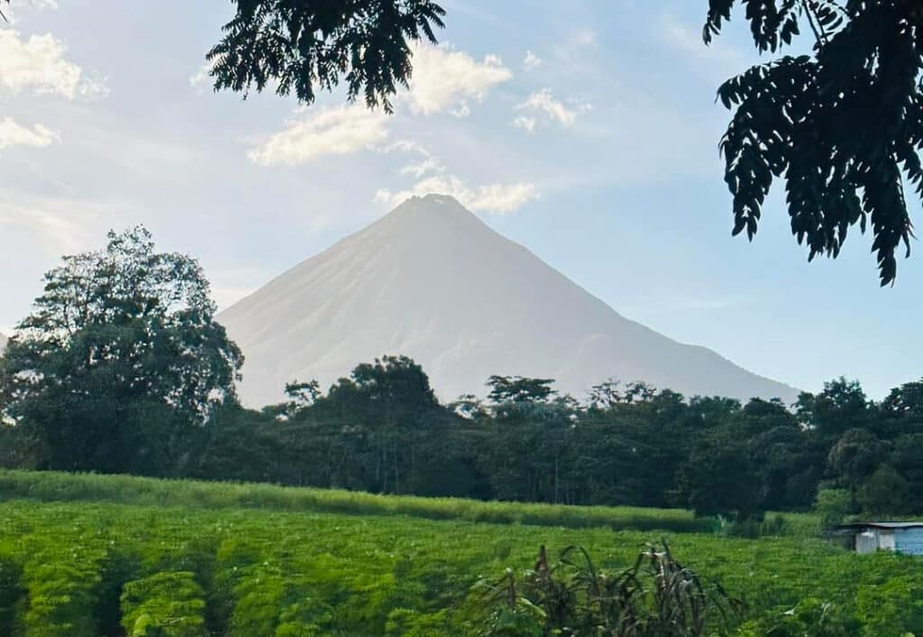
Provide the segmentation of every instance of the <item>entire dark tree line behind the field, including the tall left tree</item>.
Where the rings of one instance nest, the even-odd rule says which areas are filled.
[[[834,379],[785,405],[615,380],[578,401],[552,379],[493,376],[484,399],[440,403],[422,367],[384,356],[253,410],[195,259],[134,228],[44,283],[0,357],[4,466],[737,519],[923,511],[923,381],[876,402]]]

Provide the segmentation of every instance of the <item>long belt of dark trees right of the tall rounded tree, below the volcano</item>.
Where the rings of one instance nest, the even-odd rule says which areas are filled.
[[[195,475],[379,493],[682,506],[747,521],[763,511],[809,510],[823,489],[842,489],[848,512],[857,512],[870,501],[862,493],[881,493],[881,476],[873,476],[888,465],[908,487],[899,491],[901,510],[923,511],[923,423],[902,410],[882,427],[882,403],[844,379],[803,395],[795,412],[774,401],[653,390],[611,403],[513,391],[500,402],[465,396],[442,405],[409,359],[357,370],[283,421],[239,407],[222,411]],[[415,389],[385,390],[396,387]]]

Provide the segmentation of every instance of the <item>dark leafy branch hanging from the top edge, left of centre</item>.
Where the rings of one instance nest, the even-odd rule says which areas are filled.
[[[392,111],[411,75],[408,40],[436,42],[445,10],[430,0],[235,0],[237,12],[209,52],[215,90],[261,91],[276,82],[314,102],[346,81],[349,100]]]

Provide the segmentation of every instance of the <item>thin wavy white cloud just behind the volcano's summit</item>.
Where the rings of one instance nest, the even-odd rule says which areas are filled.
[[[382,188],[375,194],[375,201],[394,208],[408,198],[424,197],[430,193],[450,195],[470,210],[501,215],[511,214],[538,197],[535,186],[529,183],[467,186],[455,175],[433,175],[407,190],[392,192]]]

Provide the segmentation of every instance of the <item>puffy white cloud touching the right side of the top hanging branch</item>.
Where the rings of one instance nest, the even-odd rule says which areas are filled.
[[[470,102],[482,102],[492,87],[513,77],[496,55],[478,62],[448,44],[417,44],[413,53],[414,73],[404,99],[414,114],[463,117],[471,112]]]

